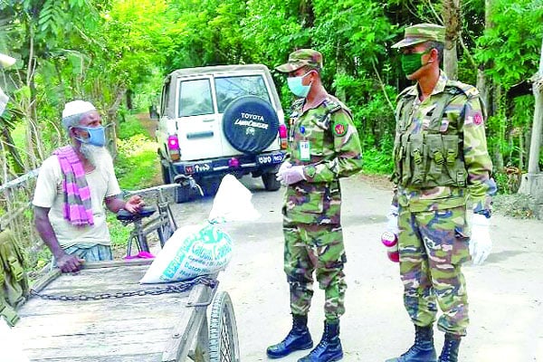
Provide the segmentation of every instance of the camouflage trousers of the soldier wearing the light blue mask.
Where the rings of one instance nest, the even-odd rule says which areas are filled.
[[[291,288],[291,313],[307,315],[313,296],[313,271],[325,292],[326,319],[345,313],[346,260],[341,225],[283,224],[284,271]]]

